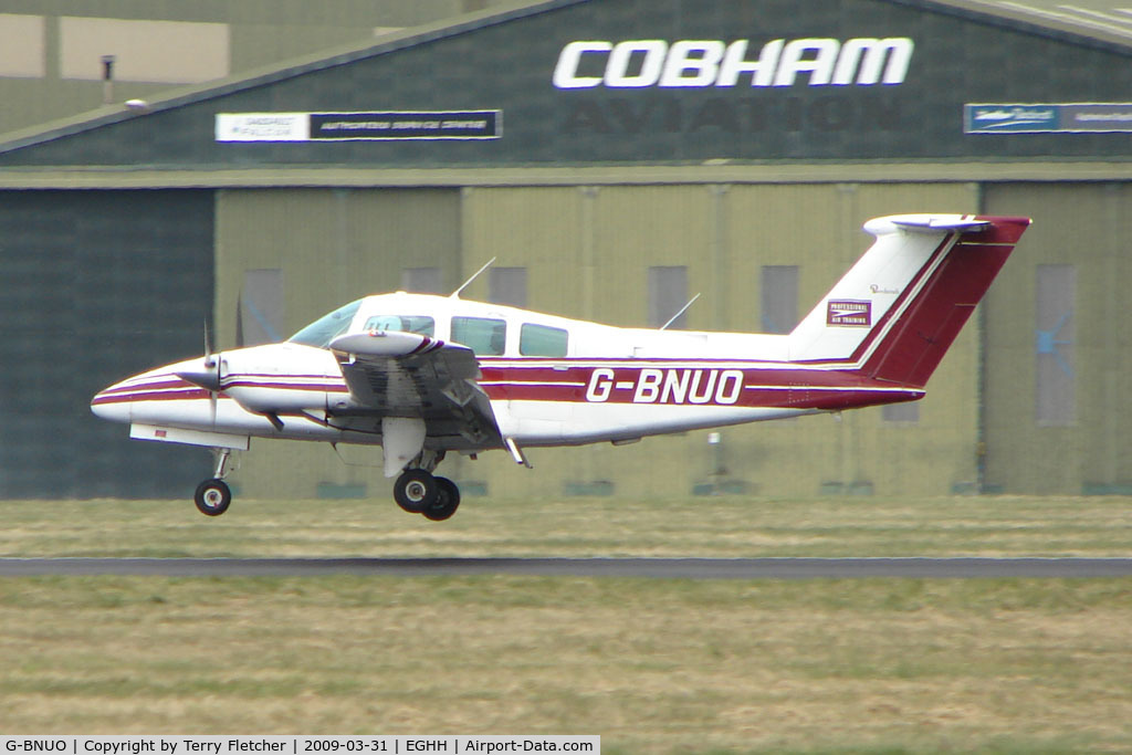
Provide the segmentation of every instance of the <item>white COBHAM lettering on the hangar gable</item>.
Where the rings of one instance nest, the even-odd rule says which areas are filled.
[[[771,40],[755,59],[751,40],[575,41],[558,53],[554,85],[593,87],[788,87],[807,75],[809,86],[902,84],[915,42],[906,36],[846,40]]]

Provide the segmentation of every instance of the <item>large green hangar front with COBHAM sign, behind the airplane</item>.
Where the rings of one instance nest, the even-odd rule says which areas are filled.
[[[139,360],[196,353],[208,314],[223,348],[286,337],[366,293],[449,292],[491,257],[465,295],[640,326],[701,293],[681,327],[789,329],[867,247],[869,217],[1024,214],[1034,228],[917,405],[732,428],[719,443],[540,449],[533,472],[486,454],[445,473],[469,494],[530,497],[1118,491],[1132,481],[1118,315],[1132,272],[1130,57],[1118,38],[958,1],[503,7],[0,144],[0,189],[57,213],[29,229],[8,212],[2,228],[19,226],[29,251],[6,252],[0,272],[38,276],[12,308],[43,321],[52,225],[83,229],[76,246],[122,242],[121,285],[140,276],[161,293],[129,304],[154,310],[127,318],[140,327],[102,328],[136,343],[129,354],[69,336],[91,360],[84,379],[105,384]],[[95,213],[79,197],[127,195],[188,209],[120,205],[119,222],[83,226]],[[165,239],[158,230],[204,234],[199,264],[173,275],[142,264],[164,246],[130,237]],[[168,291],[200,276],[205,292]],[[154,301],[182,295],[204,314]],[[86,289],[77,299],[100,323],[125,306]],[[42,351],[10,333],[0,350],[6,362]],[[44,495],[187,495],[207,474],[206,455],[172,449],[196,471],[135,484],[121,470],[171,449],[92,429],[84,402],[101,385],[37,359],[72,396],[59,430],[102,439],[83,462],[95,487]],[[3,411],[16,415],[17,385],[29,405],[53,406],[41,383],[10,378]],[[19,421],[34,429],[42,411]],[[48,481],[58,441],[31,438],[22,482],[0,492]],[[7,466],[17,452],[5,443]],[[376,452],[342,455],[258,441],[232,479],[252,496],[384,497]]]

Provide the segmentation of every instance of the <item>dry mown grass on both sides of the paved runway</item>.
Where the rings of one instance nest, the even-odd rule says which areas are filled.
[[[1132,499],[0,503],[5,556],[1132,556]],[[5,733],[1132,752],[1132,581],[0,580]]]

